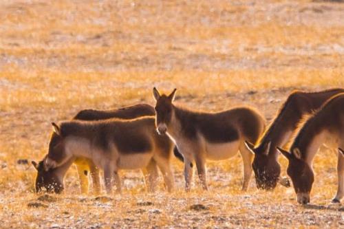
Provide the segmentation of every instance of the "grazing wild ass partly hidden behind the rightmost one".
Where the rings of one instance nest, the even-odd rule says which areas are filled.
[[[310,93],[294,91],[288,96],[257,146],[246,142],[246,147],[255,154],[252,168],[255,172],[257,188],[272,189],[277,182],[286,182],[286,179],[280,178],[281,166],[276,147],[283,147],[288,142],[303,116],[319,109],[326,100],[341,92],[344,92],[344,89]]]

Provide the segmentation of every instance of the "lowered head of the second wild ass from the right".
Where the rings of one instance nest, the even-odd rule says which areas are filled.
[[[257,188],[273,189],[279,181],[281,166],[275,157],[269,156],[271,142],[260,144],[255,148],[250,142],[245,141],[246,148],[255,155],[252,168],[255,172]]]

